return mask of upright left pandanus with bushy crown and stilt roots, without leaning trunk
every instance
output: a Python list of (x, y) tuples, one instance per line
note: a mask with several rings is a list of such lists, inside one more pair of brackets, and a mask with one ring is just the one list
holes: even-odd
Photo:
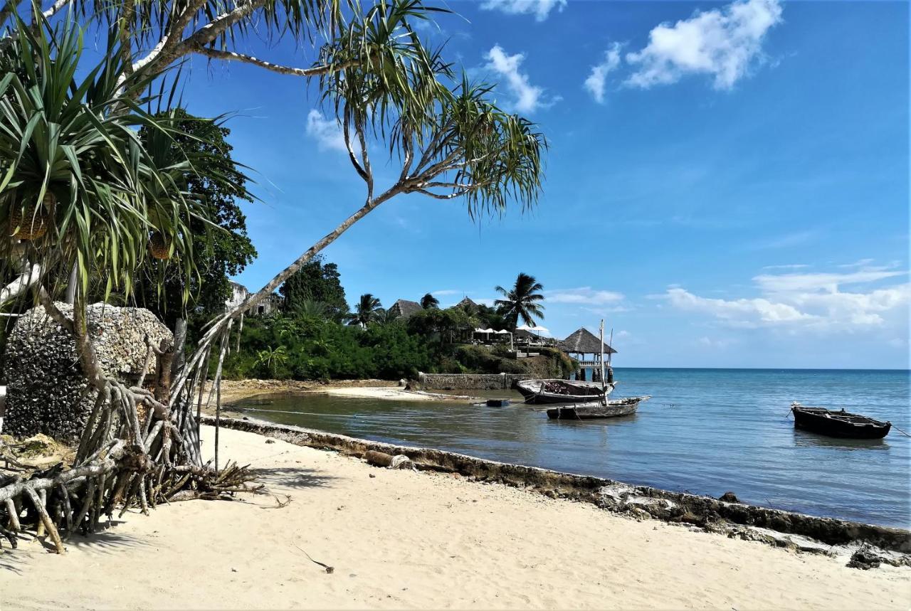
[[(152, 102), (143, 94), (148, 79), (120, 78), (116, 38), (101, 63), (77, 79), (83, 38), (69, 15), (55, 27), (40, 15), (31, 27), (16, 19), (15, 36), (0, 41), (0, 220), (6, 231), (0, 259), (25, 269), (20, 288), (34, 289), (46, 313), (74, 337), (95, 402), (72, 468), (12, 484), (0, 477), (0, 507), (18, 524), (16, 503), (25, 495), (62, 551), (56, 522), (66, 524), (69, 535), (84, 520), (97, 524), (121, 501), (138, 499), (144, 510), (154, 503), (161, 491), (152, 483), (173, 483), (176, 474), (166, 475), (164, 465), (173, 464), (172, 447), (183, 439), (171, 418), (168, 376), (154, 392), (144, 384), (155, 353), (162, 358), (157, 372), (169, 372), (163, 366), (168, 347), (148, 346), (135, 386), (109, 376), (88, 328), (90, 283), (100, 277), (106, 294), (129, 292), (150, 257), (174, 258), (189, 278), (194, 253), (207, 241), (194, 243), (190, 225), (209, 221), (187, 190), (194, 159), (174, 148), (179, 131), (169, 117), (143, 109)], [(148, 138), (139, 137), (142, 129)], [(71, 317), (51, 297), (60, 279), (69, 279), (74, 293)], [(189, 445), (180, 445), (185, 455)]]

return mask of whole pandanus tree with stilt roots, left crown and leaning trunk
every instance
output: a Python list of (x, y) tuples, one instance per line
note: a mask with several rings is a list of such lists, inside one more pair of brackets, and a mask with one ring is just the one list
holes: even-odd
[[(57, 66), (58, 78), (72, 80), (76, 63), (64, 68), (59, 58), (51, 56), (51, 45), (31, 36), (21, 24), (15, 27), (15, 36), (0, 41), (4, 51), (18, 49), (12, 56), (45, 54), (41, 61), (31, 62), (38, 68), (30, 67), (29, 60), (24, 67), (7, 70), (13, 76), (3, 77), (3, 112), (15, 118), (15, 127), (2, 128), (0, 156), (5, 165), (0, 192), (5, 196), (12, 189), (19, 189), (27, 193), (32, 205), (42, 202), (53, 216), (48, 235), (56, 241), (41, 248), (26, 245), (26, 249), (34, 251), (23, 260), (40, 260), (54, 249), (68, 253), (60, 255), (54, 267), (56, 277), (61, 277), (70, 269), (67, 266), (77, 264), (75, 284), (82, 287), (77, 290), (77, 312), (85, 311), (90, 270), (105, 270), (112, 285), (128, 289), (132, 273), (147, 256), (147, 241), (155, 233), (161, 238), (159, 247), (163, 247), (158, 251), (177, 254), (188, 272), (192, 271), (193, 245), (186, 239), (188, 219), (200, 212), (173, 174), (180, 176), (191, 171), (192, 162), (175, 161), (173, 167), (161, 168), (157, 157), (136, 137), (138, 123), (154, 124), (152, 117), (140, 111), (137, 102), (145, 83), (179, 57), (198, 53), (311, 77), (323, 107), (338, 121), (354, 173), (363, 180), (364, 196), (360, 207), (347, 219), (261, 290), (210, 321), (195, 351), (162, 394), (153, 395), (141, 385), (127, 388), (108, 379), (97, 365), (84, 313), (77, 314), (75, 324), (68, 323), (46, 291), (39, 290), (48, 311), (73, 331), (83, 370), (98, 396), (72, 468), (55, 478), (0, 484), (0, 503), (20, 494), (29, 494), (34, 501), (38, 498), (36, 486), (56, 490), (63, 485), (59, 502), (68, 506), (67, 482), (77, 480), (83, 486), (79, 489), (81, 509), (57, 512), (54, 517), (46, 511), (42, 515), (43, 524), (52, 535), (56, 534), (55, 522), (65, 522), (67, 532), (71, 532), (80, 527), (87, 514), (95, 524), (98, 514), (109, 513), (115, 504), (126, 508), (137, 503), (145, 509), (147, 502), (154, 503), (158, 497), (167, 499), (170, 495), (173, 500), (180, 494), (185, 495), (181, 498), (219, 494), (241, 486), (244, 475), (236, 469), (212, 476), (202, 461), (199, 441), (200, 411), (207, 387), (206, 402), (214, 396), (218, 413), (222, 365), (234, 321), (268, 299), (283, 281), (355, 222), (397, 196), (420, 194), (432, 199), (459, 200), (471, 218), (485, 213), (502, 214), (510, 202), (522, 209), (531, 206), (541, 187), (541, 156), (546, 147), (534, 124), (496, 107), (490, 100), (491, 87), (472, 83), (466, 76), (455, 76), (438, 50), (425, 49), (409, 21), (425, 18), (433, 9), (415, 0), (381, 1), (366, 11), (354, 2), (333, 0), (127, 0), (103, 5), (57, 0), (44, 16), (50, 17), (70, 3), (77, 14), (90, 15), (87, 18), (109, 25), (118, 45), (110, 46), (106, 62), (88, 79), (90, 83), (85, 88), (75, 83), (73, 87), (56, 88), (52, 95), (38, 81), (49, 70), (57, 70)], [(2, 10), (0, 19), (15, 14), (15, 0)], [(41, 23), (41, 15), (36, 23)], [(289, 33), (301, 41), (319, 39), (319, 56), (312, 66), (296, 68), (275, 66), (232, 50), (233, 43), (251, 31), (253, 24), (262, 24), (275, 35)], [(19, 49), (20, 46), (27, 48)], [(57, 43), (53, 46), (61, 48)], [(60, 56), (58, 51), (57, 57)], [(28, 82), (22, 81), (22, 72), (30, 79)], [(39, 100), (28, 112), (23, 111), (20, 106), (30, 103), (26, 98), (35, 95), (46, 99)], [(98, 105), (72, 101), (93, 96), (104, 101)], [(61, 99), (62, 104), (58, 101)], [(70, 148), (64, 147), (61, 142), (65, 144), (66, 140), (58, 137), (58, 127), (42, 127), (47, 116), (42, 108), (55, 104), (74, 113), (78, 107), (85, 114), (79, 115), (80, 121), (94, 128), (93, 135), (87, 136), (85, 142), (74, 141)], [(71, 128), (69, 123), (60, 125)], [(166, 127), (162, 129), (167, 131)], [(39, 160), (48, 143), (58, 147), (59, 153), (44, 166), (35, 164), (30, 170), (33, 178), (27, 182), (16, 177), (26, 167), (18, 153), (19, 144), (30, 139), (35, 140), (34, 154)], [(16, 140), (14, 147), (11, 143)], [(385, 166), (398, 167), (395, 178), (382, 187), (374, 178), (376, 151), (384, 154)], [(106, 160), (104, 164), (99, 162), (99, 156)], [(69, 168), (61, 170), (58, 180), (46, 178), (52, 171), (40, 171), (42, 167), (58, 165)], [(85, 168), (92, 171), (84, 171)], [(44, 203), (48, 191), (56, 201)], [(8, 215), (14, 205), (11, 202), (21, 205), (24, 197), (5, 197), (3, 212)], [(61, 201), (66, 205), (60, 206)], [(27, 216), (25, 209), (22, 216)], [(44, 273), (38, 270), (41, 278), (50, 277), (42, 276)], [(25, 270), (18, 284), (7, 287), (6, 294), (33, 285), (34, 276), (31, 270)], [(155, 350), (149, 346), (149, 358)], [(211, 385), (207, 383), (210, 361), (214, 364)], [(144, 418), (139, 417), (140, 408)], [(119, 422), (116, 430), (112, 429), (113, 422)], [(215, 469), (218, 470), (217, 427)], [(40, 506), (44, 503), (36, 502), (36, 507)], [(56, 544), (61, 550), (58, 538)]]

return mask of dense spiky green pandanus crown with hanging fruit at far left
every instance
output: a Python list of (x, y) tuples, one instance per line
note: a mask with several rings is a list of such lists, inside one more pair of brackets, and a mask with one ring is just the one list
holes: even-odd
[(93, 274), (106, 294), (131, 292), (157, 238), (189, 284), (194, 250), (209, 243), (194, 240), (191, 226), (210, 227), (188, 191), (200, 155), (172, 150), (176, 137), (192, 136), (134, 101), (147, 81), (118, 84), (115, 41), (97, 66), (80, 70), (80, 27), (38, 19), (0, 46), (0, 219), (9, 219), (13, 238), (0, 241), (0, 257), (27, 260), (40, 270), (36, 280), (58, 284), (75, 265), (85, 299)]

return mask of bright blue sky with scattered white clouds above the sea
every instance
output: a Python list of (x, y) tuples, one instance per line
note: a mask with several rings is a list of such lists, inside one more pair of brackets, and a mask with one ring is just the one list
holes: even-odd
[[(324, 251), (349, 302), (545, 287), (558, 338), (613, 330), (628, 367), (909, 367), (907, 3), (453, 2), (424, 24), (549, 149), (535, 209), (385, 203)], [(238, 50), (308, 66), (291, 41)], [(300, 77), (195, 58), (185, 100), (232, 113), (251, 289), (363, 204)], [(377, 148), (376, 155), (382, 153)], [(395, 162), (374, 155), (378, 183)]]

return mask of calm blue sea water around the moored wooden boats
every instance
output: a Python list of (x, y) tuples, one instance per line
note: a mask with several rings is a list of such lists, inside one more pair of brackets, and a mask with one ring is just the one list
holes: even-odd
[[(911, 433), (909, 372), (616, 369), (630, 417), (551, 422), (526, 406), (313, 395), (246, 402), (264, 420), (873, 524), (911, 525), (911, 438), (794, 431), (788, 405), (844, 407)], [(496, 392), (486, 393), (495, 396)], [(502, 395), (503, 393), (499, 393)], [(515, 395), (520, 400), (518, 394)]]

